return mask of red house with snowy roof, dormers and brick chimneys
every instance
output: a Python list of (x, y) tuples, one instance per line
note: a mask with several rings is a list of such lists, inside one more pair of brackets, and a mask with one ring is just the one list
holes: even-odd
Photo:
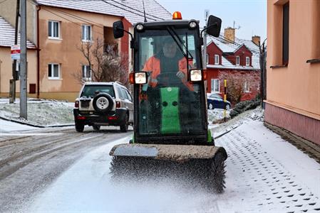
[(242, 89), (241, 101), (254, 99), (260, 84), (259, 40), (236, 38), (234, 28), (224, 29), (219, 38), (207, 37), (207, 92), (222, 94), (224, 78), (233, 75)]

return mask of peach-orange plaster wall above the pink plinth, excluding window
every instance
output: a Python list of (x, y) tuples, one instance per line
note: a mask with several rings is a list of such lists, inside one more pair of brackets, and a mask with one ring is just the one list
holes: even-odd
[(267, 102), (320, 120), (320, 63), (306, 63), (320, 58), (320, 28), (314, 28), (320, 24), (318, 0), (289, 1), (289, 64), (270, 68), (282, 63), (285, 2), (267, 1)]

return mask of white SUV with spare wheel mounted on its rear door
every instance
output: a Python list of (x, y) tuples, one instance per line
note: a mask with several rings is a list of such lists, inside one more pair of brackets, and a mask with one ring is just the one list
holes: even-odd
[(76, 131), (92, 126), (120, 126), (128, 131), (133, 124), (133, 98), (123, 84), (118, 82), (86, 82), (76, 99), (73, 109)]

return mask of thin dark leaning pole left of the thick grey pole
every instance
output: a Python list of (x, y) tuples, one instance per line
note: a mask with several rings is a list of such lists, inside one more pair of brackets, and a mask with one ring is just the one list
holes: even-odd
[[(18, 44), (19, 16), (20, 16), (19, 12), (20, 12), (20, 0), (16, 0), (16, 26), (15, 26), (15, 33), (14, 33), (14, 45)], [(9, 104), (12, 104), (16, 101), (16, 80), (18, 80), (19, 78), (16, 67), (17, 67), (16, 60), (14, 60), (14, 63), (12, 64), (12, 81), (10, 80), (11, 94), (10, 94)]]

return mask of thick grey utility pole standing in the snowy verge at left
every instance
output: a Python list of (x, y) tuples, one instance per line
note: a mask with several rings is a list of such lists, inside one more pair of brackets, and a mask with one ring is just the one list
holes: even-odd
[(21, 0), (20, 117), (27, 119), (26, 106), (26, 0)]

